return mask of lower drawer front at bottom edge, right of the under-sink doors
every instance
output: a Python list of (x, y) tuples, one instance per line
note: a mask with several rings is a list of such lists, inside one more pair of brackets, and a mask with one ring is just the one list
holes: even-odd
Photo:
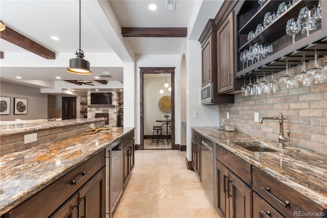
[(253, 218), (260, 217), (285, 217), (271, 207), (265, 200), (253, 193)]

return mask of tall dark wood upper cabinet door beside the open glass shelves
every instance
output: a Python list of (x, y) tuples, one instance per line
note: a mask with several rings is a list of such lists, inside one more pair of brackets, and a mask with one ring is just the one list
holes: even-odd
[(234, 89), (233, 12), (217, 31), (218, 93)]

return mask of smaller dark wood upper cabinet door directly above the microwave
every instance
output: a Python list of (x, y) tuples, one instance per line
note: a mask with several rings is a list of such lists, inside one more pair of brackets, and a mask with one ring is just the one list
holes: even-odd
[(202, 47), (202, 87), (213, 81), (213, 51), (212, 35), (206, 40)]

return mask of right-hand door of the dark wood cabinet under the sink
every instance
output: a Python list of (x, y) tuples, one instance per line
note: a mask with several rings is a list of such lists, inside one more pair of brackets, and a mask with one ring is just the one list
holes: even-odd
[(227, 182), (229, 217), (252, 217), (252, 190), (230, 171)]

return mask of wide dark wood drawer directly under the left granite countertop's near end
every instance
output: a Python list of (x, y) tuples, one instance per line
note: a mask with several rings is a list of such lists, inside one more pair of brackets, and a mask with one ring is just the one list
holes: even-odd
[[(9, 212), (10, 217), (48, 217), (104, 166), (101, 151)], [(83, 176), (83, 172), (88, 173)], [(80, 180), (81, 179), (81, 180)], [(79, 181), (80, 180), (80, 181)], [(72, 181), (79, 181), (72, 184)]]

